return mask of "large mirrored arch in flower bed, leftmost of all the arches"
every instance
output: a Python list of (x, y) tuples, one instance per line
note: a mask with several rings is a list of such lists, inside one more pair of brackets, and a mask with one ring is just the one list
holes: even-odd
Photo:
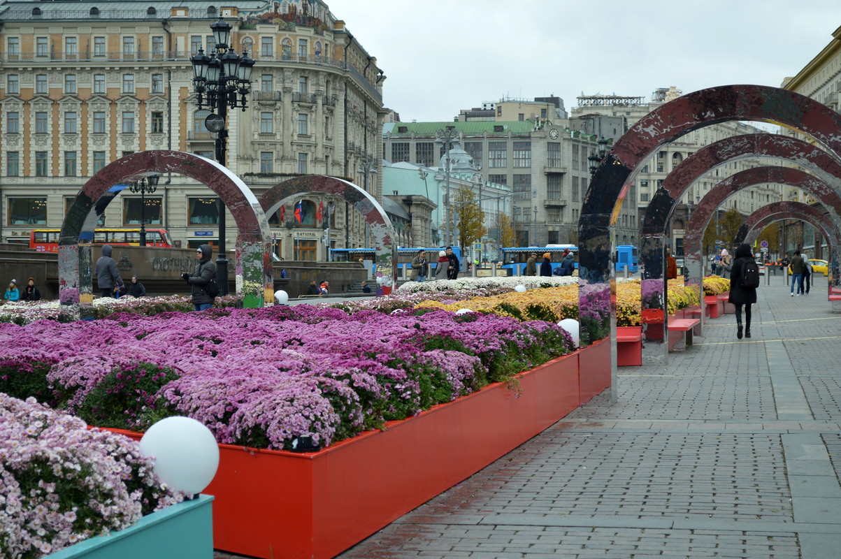
[[(59, 239), (59, 298), (64, 314), (73, 317), (93, 316), (93, 278), (91, 247), (93, 228), (98, 215), (117, 192), (114, 185), (132, 182), (152, 173), (177, 173), (202, 182), (216, 192), (230, 209), (238, 229), (237, 261), (242, 266), (237, 274), (237, 294), (246, 307), (260, 307), (273, 297), (270, 240), (266, 215), (257, 198), (239, 177), (202, 156), (182, 151), (139, 151), (121, 157), (88, 179), (61, 225)], [(87, 241), (80, 244), (80, 240)], [(271, 295), (270, 295), (271, 293)]]

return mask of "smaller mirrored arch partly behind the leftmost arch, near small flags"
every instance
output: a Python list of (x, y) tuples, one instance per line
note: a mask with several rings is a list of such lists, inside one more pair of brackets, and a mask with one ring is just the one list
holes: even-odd
[(272, 215), (289, 198), (309, 192), (323, 192), (344, 198), (362, 214), (371, 230), (377, 277), (383, 278), (380, 282), (384, 287), (397, 285), (397, 235), (394, 234), (391, 220), (376, 198), (352, 182), (324, 175), (290, 178), (263, 192), (260, 205), (264, 214)]

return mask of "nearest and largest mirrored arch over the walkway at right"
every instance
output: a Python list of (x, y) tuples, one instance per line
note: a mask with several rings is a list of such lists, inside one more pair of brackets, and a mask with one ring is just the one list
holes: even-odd
[[(841, 155), (841, 115), (811, 98), (776, 87), (732, 85), (692, 92), (665, 103), (634, 124), (616, 143), (596, 169), (584, 197), (579, 219), (579, 313), (589, 312), (591, 301), (602, 305), (616, 293), (611, 269), (611, 227), (644, 161), (660, 146), (677, 140), (693, 129), (730, 120), (756, 120), (785, 124), (807, 134), (833, 155)], [(841, 157), (838, 158), (841, 160)], [(676, 203), (676, 201), (675, 201)], [(641, 243), (642, 245), (642, 243)], [(664, 284), (664, 256), (659, 250), (659, 266), (644, 271), (645, 277)], [(663, 299), (656, 301), (665, 310)], [(600, 315), (609, 325), (611, 353), (616, 355), (616, 307), (609, 303), (609, 316)], [(668, 331), (663, 332), (668, 339)], [(665, 352), (659, 353), (663, 361)], [(616, 367), (611, 367), (611, 383)]]

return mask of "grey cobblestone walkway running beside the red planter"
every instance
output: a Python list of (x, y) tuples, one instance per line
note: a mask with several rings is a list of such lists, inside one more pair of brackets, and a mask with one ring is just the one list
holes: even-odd
[(827, 280), (770, 278), (751, 339), (728, 314), (341, 554), (643, 559), (841, 557), (841, 314)]

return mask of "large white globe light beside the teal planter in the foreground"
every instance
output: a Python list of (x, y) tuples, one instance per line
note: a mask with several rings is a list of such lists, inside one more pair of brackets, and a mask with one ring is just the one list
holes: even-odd
[(152, 425), (140, 439), (140, 454), (154, 456), (157, 477), (187, 493), (201, 493), (219, 467), (213, 433), (188, 417), (168, 417)]

